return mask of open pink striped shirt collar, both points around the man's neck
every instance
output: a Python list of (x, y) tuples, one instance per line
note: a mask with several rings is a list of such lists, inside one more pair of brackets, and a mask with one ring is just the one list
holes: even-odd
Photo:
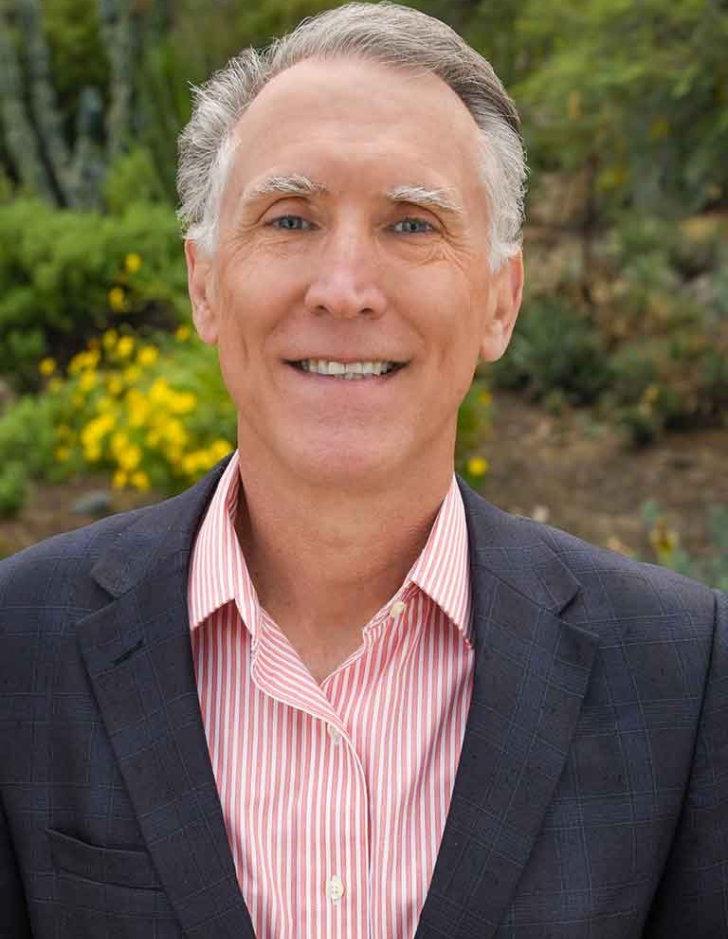
[[(255, 631), (259, 604), (235, 532), (240, 492), (237, 450), (225, 468), (197, 534), (188, 580), (190, 628), (197, 629), (215, 610), (237, 601), (243, 622)], [(416, 584), (470, 642), (471, 590), (465, 507), (453, 476), (425, 547), (402, 588)]]

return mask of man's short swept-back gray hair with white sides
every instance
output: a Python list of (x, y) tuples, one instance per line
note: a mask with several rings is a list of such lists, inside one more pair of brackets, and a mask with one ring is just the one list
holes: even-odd
[(297, 62), (342, 55), (431, 72), (463, 101), (481, 133), (490, 265), (497, 270), (521, 245), (527, 169), (518, 112), (491, 64), (454, 30), (389, 2), (347, 3), (305, 19), (262, 52), (244, 49), (192, 89), (192, 117), (179, 137), (177, 173), (178, 215), (186, 237), (214, 251), (233, 131), (264, 85)]

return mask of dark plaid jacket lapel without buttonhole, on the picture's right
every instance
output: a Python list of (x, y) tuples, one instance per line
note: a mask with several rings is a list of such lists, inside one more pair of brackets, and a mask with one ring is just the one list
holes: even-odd
[(489, 939), (563, 769), (596, 637), (560, 618), (578, 582), (533, 529), (461, 483), (473, 592), (473, 695), (416, 939)]

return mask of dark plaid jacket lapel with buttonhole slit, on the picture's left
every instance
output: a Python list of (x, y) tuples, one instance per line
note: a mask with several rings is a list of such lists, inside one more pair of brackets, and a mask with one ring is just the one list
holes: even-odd
[(187, 567), (224, 466), (144, 510), (92, 571), (115, 598), (78, 625), (139, 826), (182, 928), (253, 937), (210, 763), (192, 663)]

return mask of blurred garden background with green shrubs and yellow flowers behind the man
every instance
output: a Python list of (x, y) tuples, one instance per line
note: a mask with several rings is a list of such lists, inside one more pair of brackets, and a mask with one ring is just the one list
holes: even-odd
[[(175, 215), (197, 84), (312, 0), (0, 0), (0, 556), (190, 485), (235, 441)], [(531, 166), (527, 294), (458, 470), (501, 507), (728, 587), (728, 12), (422, 0)]]

